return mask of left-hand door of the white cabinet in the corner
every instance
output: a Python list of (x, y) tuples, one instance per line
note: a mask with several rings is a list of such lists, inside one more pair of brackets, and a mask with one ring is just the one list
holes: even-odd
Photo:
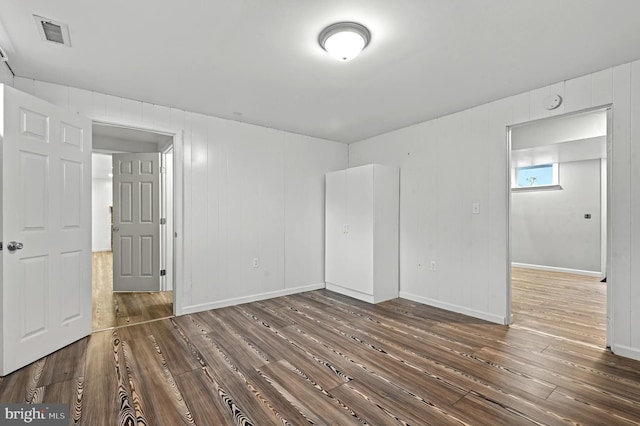
[(347, 281), (346, 200), (347, 174), (341, 170), (326, 176), (325, 277), (326, 282), (344, 286)]

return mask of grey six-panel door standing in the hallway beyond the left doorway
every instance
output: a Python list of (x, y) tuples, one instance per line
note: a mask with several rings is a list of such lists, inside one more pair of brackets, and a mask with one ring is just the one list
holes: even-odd
[(113, 291), (160, 290), (160, 165), (113, 154)]

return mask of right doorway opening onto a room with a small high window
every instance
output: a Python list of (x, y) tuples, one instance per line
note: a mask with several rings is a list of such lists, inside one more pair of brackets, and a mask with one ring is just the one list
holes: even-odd
[(609, 346), (611, 109), (507, 128), (511, 324)]

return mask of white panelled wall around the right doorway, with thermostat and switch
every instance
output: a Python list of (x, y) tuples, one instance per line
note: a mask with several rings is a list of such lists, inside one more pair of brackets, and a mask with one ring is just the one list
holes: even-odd
[[(542, 101), (551, 93), (564, 103), (550, 112)], [(613, 104), (608, 337), (614, 352), (640, 359), (640, 223), (631, 221), (640, 217), (640, 61), (350, 145), (350, 166), (402, 167), (402, 296), (506, 322), (506, 127), (606, 104)], [(431, 259), (435, 272), (425, 268)]]

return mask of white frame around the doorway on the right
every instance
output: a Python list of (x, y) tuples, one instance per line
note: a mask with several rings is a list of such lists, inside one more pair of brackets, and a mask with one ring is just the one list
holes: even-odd
[[(535, 120), (529, 120), (522, 123), (510, 124), (506, 127), (506, 144), (507, 144), (507, 309), (505, 315), (505, 324), (511, 325), (513, 323), (513, 314), (511, 309), (512, 302), (512, 280), (511, 280), (511, 264), (512, 264), (512, 236), (511, 236), (511, 129), (515, 127), (519, 127), (526, 124), (536, 123), (542, 120), (548, 119), (557, 119), (562, 117), (569, 117), (572, 115), (583, 114), (593, 111), (606, 111), (607, 112), (607, 135), (606, 135), (606, 150), (607, 150), (607, 158), (606, 158), (606, 173), (607, 179), (605, 183), (606, 188), (606, 210), (603, 211), (601, 208), (601, 213), (606, 213), (606, 239), (601, 239), (600, 245), (601, 250), (602, 246), (604, 246), (604, 252), (601, 253), (600, 256), (602, 258), (602, 269), (605, 277), (610, 275), (611, 272), (611, 240), (613, 236), (612, 232), (612, 223), (611, 223), (611, 194), (613, 192), (613, 104), (605, 104), (599, 105), (591, 108), (585, 108), (578, 111), (571, 111), (564, 114), (558, 114), (550, 117), (543, 117)], [(602, 173), (600, 174), (602, 176)], [(600, 185), (602, 188), (602, 184)], [(602, 200), (602, 194), (600, 196)], [(603, 229), (601, 229), (602, 235)], [(608, 348), (611, 347), (611, 342), (613, 341), (613, 286), (610, 280), (607, 280), (607, 288), (606, 288), (606, 346)]]

